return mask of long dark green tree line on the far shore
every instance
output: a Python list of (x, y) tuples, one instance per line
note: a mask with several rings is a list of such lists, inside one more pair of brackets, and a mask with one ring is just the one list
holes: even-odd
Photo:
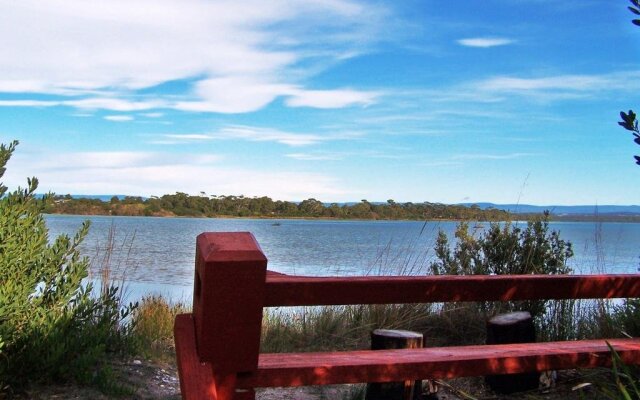
[(510, 214), (477, 205), (440, 203), (323, 203), (314, 198), (301, 202), (272, 200), (267, 196), (207, 196), (177, 192), (161, 197), (113, 196), (110, 201), (54, 196), (47, 213), (76, 215), (177, 216), (177, 217), (255, 217), (255, 218), (332, 218), (382, 220), (477, 220), (504, 221)]

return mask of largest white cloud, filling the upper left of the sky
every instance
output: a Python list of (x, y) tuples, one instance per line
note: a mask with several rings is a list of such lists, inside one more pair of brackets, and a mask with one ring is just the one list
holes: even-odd
[[(294, 106), (370, 104), (355, 90), (305, 93), (301, 78), (366, 51), (386, 14), (355, 0), (0, 0), (0, 9), (0, 93), (76, 96), (38, 106), (222, 113), (279, 96)], [(191, 80), (193, 92), (132, 98), (176, 80)]]

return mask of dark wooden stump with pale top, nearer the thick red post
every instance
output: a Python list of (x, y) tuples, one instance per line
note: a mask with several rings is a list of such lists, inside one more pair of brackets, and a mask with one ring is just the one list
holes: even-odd
[[(419, 349), (422, 334), (411, 331), (376, 329), (371, 332), (371, 350)], [(365, 400), (419, 400), (422, 381), (367, 384)]]

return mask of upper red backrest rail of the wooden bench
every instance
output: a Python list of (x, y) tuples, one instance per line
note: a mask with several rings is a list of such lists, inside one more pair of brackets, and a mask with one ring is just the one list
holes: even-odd
[(640, 275), (267, 277), (265, 307), (640, 297)]

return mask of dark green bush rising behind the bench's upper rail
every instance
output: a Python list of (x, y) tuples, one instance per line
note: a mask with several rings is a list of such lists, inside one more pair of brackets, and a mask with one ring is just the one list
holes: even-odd
[[(452, 249), (447, 235), (440, 231), (435, 245), (436, 260), (431, 264), (435, 275), (513, 275), (566, 274), (566, 262), (573, 256), (571, 243), (549, 232), (548, 213), (527, 223), (525, 228), (512, 222), (491, 223), (479, 234), (469, 232), (469, 224), (460, 223)], [(485, 312), (529, 311), (541, 317), (546, 301), (483, 304)]]

